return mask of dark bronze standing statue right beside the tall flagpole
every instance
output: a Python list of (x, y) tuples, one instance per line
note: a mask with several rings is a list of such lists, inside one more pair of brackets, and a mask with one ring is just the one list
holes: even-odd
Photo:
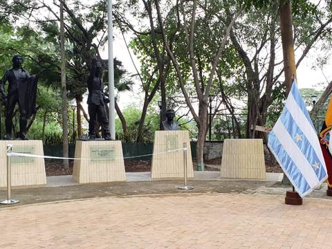
[(102, 83), (102, 64), (97, 59), (93, 59), (90, 75), (88, 78), (88, 111), (89, 111), (89, 137), (88, 140), (95, 139), (95, 123), (102, 124), (102, 136), (105, 140), (111, 140), (109, 133), (109, 118), (107, 116), (106, 104), (109, 102), (104, 96), (104, 84)]

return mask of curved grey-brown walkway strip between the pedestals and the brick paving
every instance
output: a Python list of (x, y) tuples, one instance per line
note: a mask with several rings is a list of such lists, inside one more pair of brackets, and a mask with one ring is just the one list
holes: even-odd
[[(288, 186), (277, 186), (282, 181), (282, 174), (266, 174), (264, 181), (244, 181), (221, 179), (220, 172), (194, 172), (194, 179), (188, 183), (194, 186), (190, 193), (246, 193), (263, 192), (268, 194), (284, 194)], [(183, 180), (156, 180), (150, 178), (149, 172), (127, 173), (127, 181), (113, 183), (78, 184), (71, 176), (47, 177), (45, 187), (13, 187), (12, 199), (18, 199), (17, 205), (86, 199), (104, 196), (129, 196), (137, 194), (179, 194), (183, 190), (177, 187), (183, 185)], [(323, 188), (324, 189), (324, 188)], [(317, 192), (315, 196), (326, 196), (324, 192)], [(0, 189), (0, 200), (6, 199), (6, 187)], [(4, 208), (0, 205), (0, 209)], [(1, 249), (1, 248), (0, 248)]]

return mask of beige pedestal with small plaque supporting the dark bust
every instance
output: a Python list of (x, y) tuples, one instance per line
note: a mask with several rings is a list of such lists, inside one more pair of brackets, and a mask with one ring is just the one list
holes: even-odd
[[(183, 142), (187, 143), (187, 177), (194, 177), (188, 131), (156, 131), (151, 178), (183, 178)], [(178, 151), (173, 151), (179, 149)], [(167, 151), (172, 151), (168, 152)]]

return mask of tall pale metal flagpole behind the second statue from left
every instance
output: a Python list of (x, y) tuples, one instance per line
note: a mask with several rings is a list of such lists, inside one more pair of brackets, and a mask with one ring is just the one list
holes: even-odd
[(112, 15), (112, 0), (107, 1), (108, 12), (108, 39), (109, 39), (109, 131), (111, 138), (116, 139), (116, 118), (115, 118), (115, 103), (114, 103), (114, 66), (113, 66), (113, 15)]

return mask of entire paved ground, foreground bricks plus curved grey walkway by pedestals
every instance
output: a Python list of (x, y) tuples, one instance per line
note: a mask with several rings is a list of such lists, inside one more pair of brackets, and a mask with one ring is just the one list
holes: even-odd
[[(304, 205), (284, 204), (280, 175), (234, 181), (196, 174), (151, 181), (146, 173), (120, 183), (48, 178), (46, 187), (12, 190), (0, 205), (3, 248), (332, 248), (332, 198), (326, 184)], [(0, 191), (0, 199), (6, 191)]]

